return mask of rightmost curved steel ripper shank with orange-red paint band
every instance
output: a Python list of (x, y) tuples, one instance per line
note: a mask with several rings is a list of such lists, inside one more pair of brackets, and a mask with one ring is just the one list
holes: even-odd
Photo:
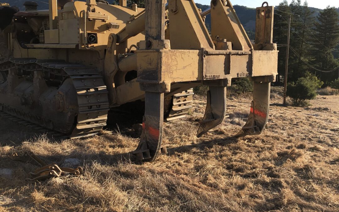
[(268, 110), (270, 107), (270, 82), (254, 82), (253, 101), (247, 122), (235, 135), (236, 137), (246, 135), (259, 135), (266, 127)]

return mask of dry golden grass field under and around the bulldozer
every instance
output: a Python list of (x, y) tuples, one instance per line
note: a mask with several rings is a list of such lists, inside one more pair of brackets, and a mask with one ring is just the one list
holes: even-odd
[[(229, 118), (196, 138), (205, 100), (165, 123), (168, 155), (138, 163), (133, 129), (88, 139), (53, 140), (0, 118), (0, 211), (339, 211), (339, 96), (308, 108), (282, 107), (273, 91), (269, 130), (234, 138), (249, 98), (227, 100)], [(329, 110), (328, 110), (329, 109)], [(5, 156), (32, 151), (61, 165), (78, 158), (84, 176), (25, 181), (36, 168)]]

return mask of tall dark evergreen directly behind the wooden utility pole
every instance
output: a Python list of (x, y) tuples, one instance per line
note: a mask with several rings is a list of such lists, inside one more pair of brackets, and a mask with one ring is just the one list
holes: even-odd
[[(278, 44), (287, 43), (287, 21), (291, 13), (291, 32), (290, 32), (290, 54), (288, 58), (288, 81), (296, 81), (298, 78), (305, 76), (309, 70), (303, 60), (308, 61), (311, 58), (310, 52), (310, 28), (313, 25), (313, 13), (305, 1), (301, 5), (300, 0), (293, 0), (290, 5), (283, 1), (277, 7), (274, 20), (274, 41)], [(282, 11), (282, 12), (280, 12)], [(283, 13), (287, 12), (287, 13)], [(278, 45), (279, 46), (279, 45)], [(298, 54), (295, 54), (294, 51)], [(283, 74), (285, 71), (286, 47), (279, 48), (278, 55), (278, 73)], [(279, 77), (278, 77), (279, 78)]]

